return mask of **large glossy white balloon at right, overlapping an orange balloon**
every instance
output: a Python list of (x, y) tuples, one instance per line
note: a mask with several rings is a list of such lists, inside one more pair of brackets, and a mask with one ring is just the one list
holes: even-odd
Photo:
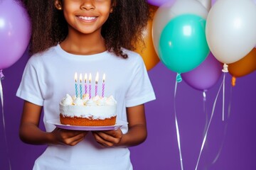
[(256, 45), (256, 6), (252, 0), (218, 0), (208, 13), (206, 40), (225, 64), (245, 57)]

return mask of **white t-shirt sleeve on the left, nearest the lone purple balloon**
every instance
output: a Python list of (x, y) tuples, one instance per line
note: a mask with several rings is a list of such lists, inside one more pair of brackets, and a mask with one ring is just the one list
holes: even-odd
[(43, 96), (36, 67), (36, 60), (33, 57), (28, 60), (23, 72), (21, 84), (18, 86), (16, 96), (38, 106), (43, 106)]

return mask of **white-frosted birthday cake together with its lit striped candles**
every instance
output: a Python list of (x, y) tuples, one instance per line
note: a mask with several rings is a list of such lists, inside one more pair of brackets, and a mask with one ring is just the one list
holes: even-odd
[[(82, 91), (82, 82), (84, 82), (85, 92)], [(117, 118), (117, 101), (113, 96), (106, 97), (105, 74), (102, 79), (102, 95), (97, 95), (99, 82), (99, 73), (95, 77), (95, 96), (92, 96), (92, 75), (89, 76), (87, 91), (87, 74), (82, 81), (80, 74), (80, 93), (78, 94), (78, 74), (75, 73), (75, 96), (69, 94), (60, 101), (60, 123), (63, 125), (78, 126), (110, 126), (115, 125)], [(87, 93), (88, 92), (88, 93)]]

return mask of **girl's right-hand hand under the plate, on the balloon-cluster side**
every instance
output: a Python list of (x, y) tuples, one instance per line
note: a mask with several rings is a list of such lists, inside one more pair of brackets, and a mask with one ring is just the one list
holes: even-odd
[(120, 142), (123, 134), (122, 130), (118, 128), (116, 130), (94, 131), (92, 135), (100, 146), (114, 147)]

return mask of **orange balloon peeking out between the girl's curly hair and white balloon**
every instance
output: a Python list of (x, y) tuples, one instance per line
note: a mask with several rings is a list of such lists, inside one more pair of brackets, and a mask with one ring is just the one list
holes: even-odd
[(136, 48), (134, 52), (138, 52), (139, 55), (142, 56), (142, 59), (146, 65), (146, 70), (148, 71), (155, 67), (160, 61), (156, 51), (154, 50), (154, 44), (152, 41), (152, 19), (157, 8), (155, 6), (150, 6), (149, 9), (151, 17), (149, 18), (147, 26), (143, 31), (144, 42), (139, 41), (134, 45)]

